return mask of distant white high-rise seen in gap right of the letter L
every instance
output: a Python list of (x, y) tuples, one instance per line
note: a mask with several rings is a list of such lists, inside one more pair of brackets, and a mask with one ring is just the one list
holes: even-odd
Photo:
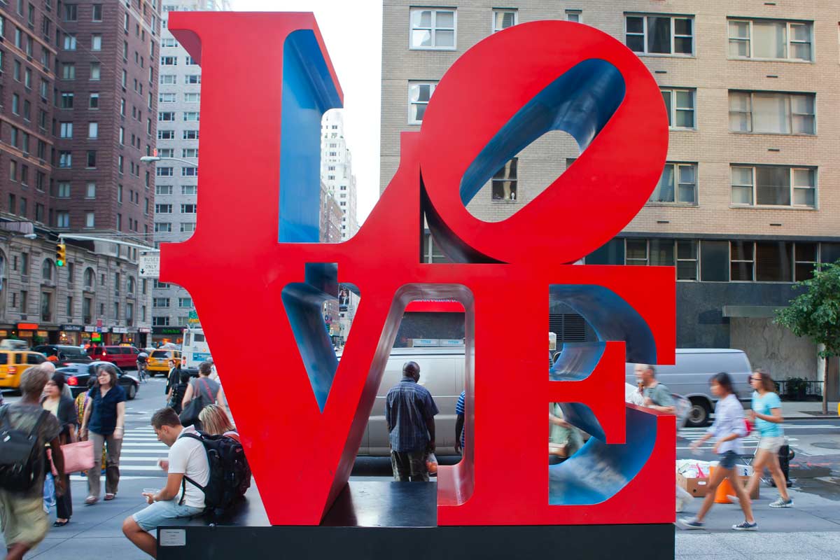
[(353, 156), (344, 140), (344, 116), (340, 109), (324, 114), (321, 121), (321, 181), (341, 207), (341, 240), (359, 231), (356, 216), (356, 177)]

